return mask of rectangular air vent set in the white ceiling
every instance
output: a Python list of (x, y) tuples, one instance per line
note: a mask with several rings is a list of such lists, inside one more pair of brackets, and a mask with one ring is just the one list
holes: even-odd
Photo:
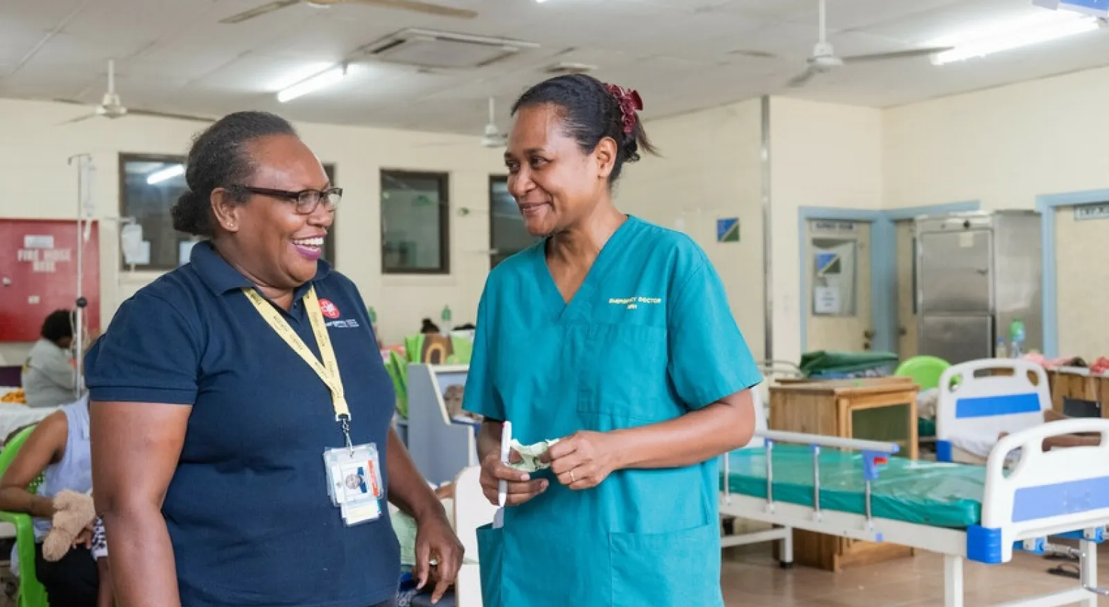
[(481, 68), (539, 44), (465, 33), (407, 29), (366, 44), (360, 52), (379, 61), (419, 68)]

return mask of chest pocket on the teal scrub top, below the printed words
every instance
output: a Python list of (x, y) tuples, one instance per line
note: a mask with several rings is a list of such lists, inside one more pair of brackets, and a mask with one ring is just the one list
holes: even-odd
[(680, 411), (667, 383), (667, 330), (638, 323), (589, 326), (580, 360), (578, 412), (661, 421)]

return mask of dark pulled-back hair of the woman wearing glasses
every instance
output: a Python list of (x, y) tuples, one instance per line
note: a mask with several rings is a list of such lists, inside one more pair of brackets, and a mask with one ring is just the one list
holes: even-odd
[[(285, 119), (267, 112), (227, 114), (196, 136), (185, 161), (189, 192), (177, 198), (171, 214), (173, 229), (195, 236), (214, 236), (210, 198), (217, 187), (240, 185), (254, 173), (247, 145), (272, 135), (296, 136)], [(232, 191), (240, 202), (245, 193)]]

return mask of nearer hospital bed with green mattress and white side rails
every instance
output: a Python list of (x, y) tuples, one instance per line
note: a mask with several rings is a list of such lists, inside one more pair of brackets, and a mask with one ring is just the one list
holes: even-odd
[[(1101, 444), (1041, 450), (1048, 436), (1078, 432), (1101, 434)], [(762, 447), (725, 459), (722, 515), (943, 554), (945, 607), (964, 606), (965, 559), (1003, 564), (1014, 549), (1045, 553), (1048, 536), (1076, 538), (1076, 587), (1004, 606), (1095, 607), (1109, 596), (1097, 587), (1096, 551), (1109, 524), (1109, 420), (1021, 430), (998, 441), (986, 466), (893, 457), (893, 443), (759, 434)]]

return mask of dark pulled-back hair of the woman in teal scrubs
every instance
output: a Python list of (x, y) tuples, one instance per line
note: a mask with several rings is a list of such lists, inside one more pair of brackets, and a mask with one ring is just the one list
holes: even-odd
[(602, 138), (617, 142), (617, 158), (609, 175), (609, 183), (620, 178), (624, 163), (639, 160), (639, 151), (654, 154), (647, 138), (647, 131), (637, 115), (631, 133), (624, 133), (620, 101), (607, 85), (593, 76), (570, 74), (554, 76), (528, 89), (512, 104), (515, 115), (521, 107), (551, 104), (558, 109), (562, 132), (578, 142), (586, 154), (591, 154)]

